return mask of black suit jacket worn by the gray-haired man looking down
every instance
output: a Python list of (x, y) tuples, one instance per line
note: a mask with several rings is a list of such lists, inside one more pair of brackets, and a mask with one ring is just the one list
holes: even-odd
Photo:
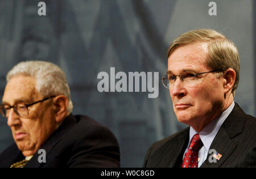
[[(39, 163), (42, 154), (36, 152), (26, 167), (119, 167), (119, 146), (113, 133), (86, 116), (65, 118), (41, 149), (46, 151), (46, 163)], [(0, 155), (0, 167), (23, 160), (14, 143)], [(40, 160), (39, 160), (40, 161)]]

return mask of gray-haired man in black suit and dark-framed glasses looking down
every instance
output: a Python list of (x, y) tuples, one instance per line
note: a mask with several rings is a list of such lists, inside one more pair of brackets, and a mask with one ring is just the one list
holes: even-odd
[(0, 167), (119, 167), (114, 134), (86, 116), (73, 116), (64, 72), (49, 62), (28, 61), (7, 74), (1, 114), (15, 143)]

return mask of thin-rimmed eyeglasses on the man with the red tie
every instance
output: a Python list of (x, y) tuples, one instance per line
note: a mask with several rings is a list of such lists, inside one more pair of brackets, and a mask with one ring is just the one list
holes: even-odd
[(177, 76), (180, 77), (181, 82), (183, 82), (184, 86), (187, 87), (195, 87), (197, 84), (200, 83), (199, 80), (199, 76), (201, 74), (205, 74), (205, 73), (213, 73), (213, 72), (221, 72), (224, 70), (214, 70), (214, 71), (207, 71), (207, 72), (203, 72), (203, 73), (193, 73), (191, 71), (184, 71), (183, 73), (181, 73), (180, 75), (172, 75), (172, 74), (166, 74), (163, 75), (162, 77), (162, 83), (163, 86), (166, 88), (174, 88), (174, 83), (177, 79)]

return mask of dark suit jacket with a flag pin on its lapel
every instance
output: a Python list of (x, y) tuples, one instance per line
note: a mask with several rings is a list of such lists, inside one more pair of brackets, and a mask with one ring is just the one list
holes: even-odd
[[(189, 127), (159, 140), (149, 148), (143, 167), (181, 167), (189, 140)], [(256, 119), (243, 112), (236, 104), (224, 121), (210, 149), (222, 155), (210, 163), (212, 154), (201, 167), (256, 167)]]

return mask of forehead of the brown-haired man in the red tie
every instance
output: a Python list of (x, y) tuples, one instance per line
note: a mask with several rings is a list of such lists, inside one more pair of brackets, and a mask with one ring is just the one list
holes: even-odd
[(199, 72), (208, 69), (207, 43), (195, 43), (180, 46), (168, 58), (168, 71), (181, 73), (182, 71)]

